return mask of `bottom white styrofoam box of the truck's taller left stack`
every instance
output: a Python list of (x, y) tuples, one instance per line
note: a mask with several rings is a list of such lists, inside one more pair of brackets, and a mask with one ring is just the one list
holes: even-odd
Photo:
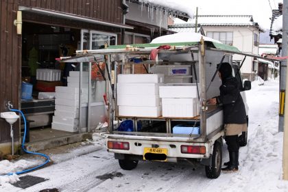
[(161, 115), (161, 107), (135, 107), (119, 106), (120, 116), (158, 118)]

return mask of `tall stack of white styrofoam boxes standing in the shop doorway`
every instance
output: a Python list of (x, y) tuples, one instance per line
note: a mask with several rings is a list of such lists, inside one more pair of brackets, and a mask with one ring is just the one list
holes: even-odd
[[(83, 84), (88, 84), (88, 72), (83, 73)], [(56, 87), (55, 112), (52, 129), (76, 132), (79, 127), (79, 71), (71, 71), (67, 87)], [(75, 85), (78, 85), (76, 87)], [(71, 86), (72, 85), (72, 86)], [(73, 85), (75, 87), (73, 87)], [(88, 88), (82, 88), (82, 105), (88, 101)]]

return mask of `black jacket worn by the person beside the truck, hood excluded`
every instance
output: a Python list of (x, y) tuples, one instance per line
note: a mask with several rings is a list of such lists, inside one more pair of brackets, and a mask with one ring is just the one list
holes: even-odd
[(224, 124), (245, 124), (245, 105), (239, 92), (239, 83), (235, 77), (222, 77), (217, 103), (224, 108)]

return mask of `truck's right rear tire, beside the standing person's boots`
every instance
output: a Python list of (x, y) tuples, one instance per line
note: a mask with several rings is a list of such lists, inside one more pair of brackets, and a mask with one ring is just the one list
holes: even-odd
[(205, 172), (207, 178), (218, 178), (221, 173), (221, 165), (222, 165), (222, 147), (221, 143), (216, 141), (213, 147), (211, 165), (205, 166)]

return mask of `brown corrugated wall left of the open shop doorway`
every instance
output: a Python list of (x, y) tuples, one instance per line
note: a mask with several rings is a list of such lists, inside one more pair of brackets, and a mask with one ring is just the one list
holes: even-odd
[[(19, 108), (19, 87), (21, 77), (21, 36), (16, 34), (13, 20), (18, 5), (13, 1), (0, 3), (0, 112), (7, 111), (5, 103), (12, 101)], [(14, 124), (15, 141), (19, 140), (19, 124)], [(11, 141), (10, 125), (1, 118), (0, 143)]]

